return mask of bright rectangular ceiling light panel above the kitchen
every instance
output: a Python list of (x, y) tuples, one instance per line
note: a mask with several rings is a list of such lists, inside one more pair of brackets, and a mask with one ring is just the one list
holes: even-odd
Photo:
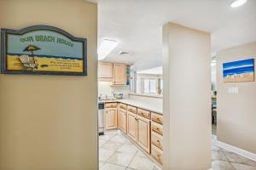
[(116, 48), (117, 45), (118, 42), (114, 40), (104, 39), (97, 50), (98, 59), (105, 59), (108, 56), (108, 54), (110, 54), (111, 51), (113, 51), (113, 49)]

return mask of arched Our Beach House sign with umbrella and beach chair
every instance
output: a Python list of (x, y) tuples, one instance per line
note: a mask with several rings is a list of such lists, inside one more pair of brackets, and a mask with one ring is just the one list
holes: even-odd
[(1, 29), (1, 73), (87, 75), (87, 40), (54, 26)]

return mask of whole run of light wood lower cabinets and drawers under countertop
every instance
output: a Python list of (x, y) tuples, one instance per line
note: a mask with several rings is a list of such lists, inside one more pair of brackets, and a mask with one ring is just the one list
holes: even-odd
[(163, 164), (163, 116), (132, 105), (105, 104), (106, 129), (119, 128), (155, 161)]

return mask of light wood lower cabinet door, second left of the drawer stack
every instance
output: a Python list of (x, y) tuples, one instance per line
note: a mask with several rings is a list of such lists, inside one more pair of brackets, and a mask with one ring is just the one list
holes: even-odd
[(137, 116), (127, 111), (127, 135), (137, 142)]

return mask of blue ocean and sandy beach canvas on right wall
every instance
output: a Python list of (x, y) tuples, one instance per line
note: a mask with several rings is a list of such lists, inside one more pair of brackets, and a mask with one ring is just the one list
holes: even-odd
[(224, 82), (254, 82), (254, 59), (223, 64)]

